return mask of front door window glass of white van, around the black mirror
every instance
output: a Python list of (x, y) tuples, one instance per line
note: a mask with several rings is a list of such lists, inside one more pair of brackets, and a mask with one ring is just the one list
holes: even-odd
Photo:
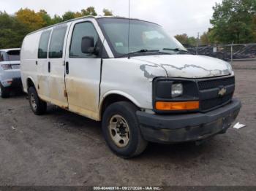
[(99, 36), (94, 28), (94, 25), (89, 22), (78, 23), (75, 25), (72, 41), (70, 45), (69, 58), (96, 58), (97, 55), (84, 54), (81, 51), (81, 44), (83, 36), (93, 36), (94, 37), (94, 47), (99, 43)]

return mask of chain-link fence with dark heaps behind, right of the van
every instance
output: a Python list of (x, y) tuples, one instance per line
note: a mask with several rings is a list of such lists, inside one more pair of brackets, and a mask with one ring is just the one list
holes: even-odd
[(224, 61), (256, 61), (256, 43), (187, 47), (195, 55), (207, 55)]

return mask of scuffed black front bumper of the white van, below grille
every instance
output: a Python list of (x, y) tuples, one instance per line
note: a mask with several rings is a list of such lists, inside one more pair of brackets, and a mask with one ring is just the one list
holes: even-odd
[(148, 114), (137, 112), (144, 139), (159, 143), (197, 141), (223, 133), (236, 120), (241, 102), (233, 99), (230, 104), (207, 113)]

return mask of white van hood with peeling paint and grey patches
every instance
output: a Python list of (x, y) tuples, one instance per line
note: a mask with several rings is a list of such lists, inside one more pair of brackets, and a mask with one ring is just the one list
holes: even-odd
[[(203, 55), (148, 55), (132, 59), (161, 66), (167, 77), (205, 78), (233, 74), (230, 63)], [(143, 64), (142, 64), (143, 65)]]

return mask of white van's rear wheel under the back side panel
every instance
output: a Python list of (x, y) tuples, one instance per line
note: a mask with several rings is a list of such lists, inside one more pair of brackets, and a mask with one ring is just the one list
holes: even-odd
[(37, 115), (45, 114), (47, 104), (45, 101), (40, 100), (37, 95), (37, 90), (34, 87), (29, 87), (29, 105), (32, 112)]

